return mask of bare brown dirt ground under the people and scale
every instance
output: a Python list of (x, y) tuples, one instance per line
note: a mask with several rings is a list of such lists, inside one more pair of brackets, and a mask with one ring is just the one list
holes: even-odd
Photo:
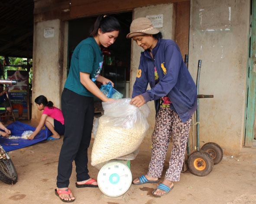
[[(26, 124), (31, 122), (26, 121)], [(62, 139), (42, 141), (9, 152), (18, 173), (18, 182), (7, 185), (0, 181), (1, 204), (63, 203), (54, 191)], [(93, 141), (92, 138), (91, 147)], [(133, 178), (145, 174), (149, 164), (149, 144), (143, 142), (139, 150), (136, 158), (131, 160)], [(97, 179), (99, 171), (90, 162), (89, 171), (91, 177)], [(224, 155), (207, 176), (199, 177), (189, 170), (182, 172), (172, 191), (162, 197), (151, 194), (157, 184), (131, 185), (128, 193), (120, 199), (104, 196), (99, 188), (76, 188), (75, 181), (73, 165), (69, 188), (76, 197), (75, 204), (256, 204), (256, 149), (247, 149), (236, 158)]]

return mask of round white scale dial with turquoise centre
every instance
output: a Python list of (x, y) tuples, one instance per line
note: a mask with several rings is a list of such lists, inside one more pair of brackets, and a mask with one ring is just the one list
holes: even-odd
[(132, 173), (122, 162), (109, 162), (100, 169), (97, 182), (102, 193), (109, 197), (118, 197), (130, 188)]

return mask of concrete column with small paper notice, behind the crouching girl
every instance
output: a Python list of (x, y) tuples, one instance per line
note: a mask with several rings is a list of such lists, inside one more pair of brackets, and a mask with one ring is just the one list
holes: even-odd
[(57, 108), (66, 79), (68, 23), (59, 19), (37, 22), (34, 26), (32, 119), (39, 120), (42, 112), (34, 100), (44, 95)]

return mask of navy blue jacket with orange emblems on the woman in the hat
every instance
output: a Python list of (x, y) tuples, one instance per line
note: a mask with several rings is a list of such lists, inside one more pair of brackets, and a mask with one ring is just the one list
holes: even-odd
[[(185, 123), (197, 109), (197, 87), (186, 67), (178, 45), (173, 40), (160, 39), (152, 49), (141, 53), (132, 97), (142, 95), (146, 102), (155, 101), (156, 112), (160, 108), (159, 99), (168, 96), (181, 121)], [(154, 67), (159, 76), (155, 84)], [(151, 87), (147, 90), (148, 83)]]

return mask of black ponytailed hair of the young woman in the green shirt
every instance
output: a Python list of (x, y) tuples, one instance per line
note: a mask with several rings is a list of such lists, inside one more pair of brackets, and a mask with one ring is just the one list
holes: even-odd
[(90, 33), (91, 37), (95, 37), (98, 35), (98, 30), (100, 29), (101, 32), (112, 32), (114, 30), (120, 31), (120, 23), (118, 20), (113, 16), (107, 15), (100, 15), (97, 17), (94, 28)]

